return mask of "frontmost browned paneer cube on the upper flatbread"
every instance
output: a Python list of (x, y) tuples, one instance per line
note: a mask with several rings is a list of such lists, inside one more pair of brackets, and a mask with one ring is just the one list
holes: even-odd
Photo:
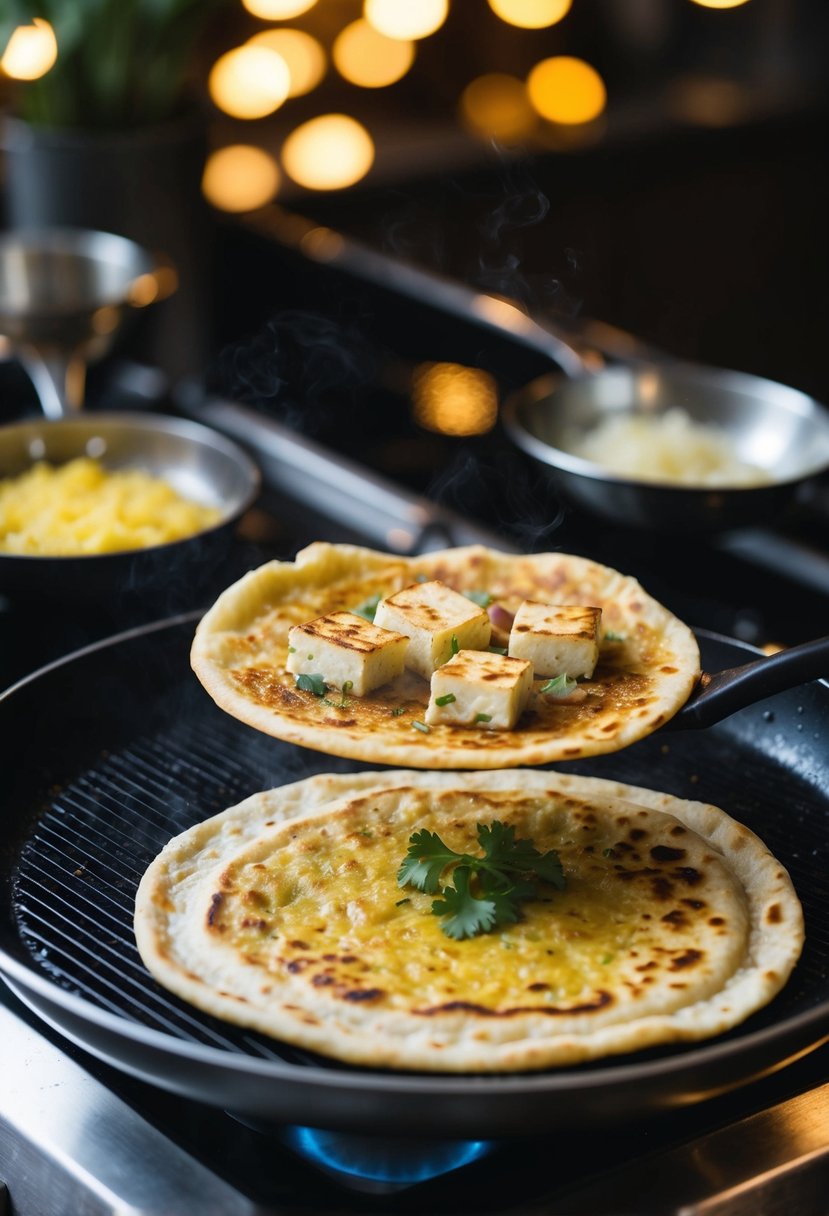
[(512, 731), (532, 691), (532, 664), (487, 651), (459, 651), (432, 676), (430, 726)]

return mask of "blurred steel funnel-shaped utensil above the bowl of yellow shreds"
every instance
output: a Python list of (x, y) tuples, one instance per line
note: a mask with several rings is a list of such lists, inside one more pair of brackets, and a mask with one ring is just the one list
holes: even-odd
[(128, 311), (175, 287), (167, 259), (112, 232), (0, 236), (0, 334), (29, 373), (46, 417), (81, 407), (86, 365), (107, 353)]

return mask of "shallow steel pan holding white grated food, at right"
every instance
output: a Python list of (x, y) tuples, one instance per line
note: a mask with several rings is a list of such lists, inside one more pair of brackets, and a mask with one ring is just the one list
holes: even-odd
[(829, 468), (829, 412), (819, 402), (693, 364), (546, 376), (504, 402), (503, 423), (570, 502), (659, 531), (778, 518)]

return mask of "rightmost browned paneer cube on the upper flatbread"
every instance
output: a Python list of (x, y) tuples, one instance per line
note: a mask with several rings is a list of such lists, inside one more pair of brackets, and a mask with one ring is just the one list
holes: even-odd
[(600, 608), (525, 599), (509, 631), (508, 653), (537, 676), (592, 676), (599, 657)]

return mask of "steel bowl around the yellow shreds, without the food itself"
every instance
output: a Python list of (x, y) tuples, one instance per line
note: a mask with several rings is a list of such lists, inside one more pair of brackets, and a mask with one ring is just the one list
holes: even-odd
[(0, 552), (0, 592), (47, 596), (56, 606), (63, 599), (157, 597), (176, 585), (197, 595), (259, 494), (254, 462), (232, 440), (197, 422), (125, 412), (0, 427), (0, 478), (16, 477), (38, 460), (63, 465), (77, 456), (94, 456), (107, 469), (140, 468), (164, 478), (184, 496), (218, 507), (220, 517), (193, 536), (150, 548), (79, 557)]

